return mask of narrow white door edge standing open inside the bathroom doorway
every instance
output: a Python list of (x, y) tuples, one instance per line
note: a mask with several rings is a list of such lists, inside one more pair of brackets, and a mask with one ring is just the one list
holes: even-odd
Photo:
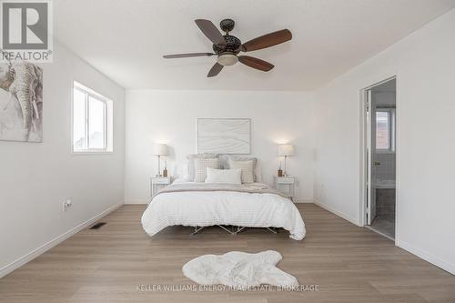
[(376, 109), (371, 100), (371, 90), (367, 91), (367, 224), (376, 217)]

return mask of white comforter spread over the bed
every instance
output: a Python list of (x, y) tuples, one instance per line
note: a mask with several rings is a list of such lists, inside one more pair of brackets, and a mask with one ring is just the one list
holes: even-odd
[(150, 237), (175, 225), (283, 227), (295, 240), (303, 239), (306, 233), (298, 208), (288, 198), (235, 191), (162, 193), (153, 198), (141, 221)]

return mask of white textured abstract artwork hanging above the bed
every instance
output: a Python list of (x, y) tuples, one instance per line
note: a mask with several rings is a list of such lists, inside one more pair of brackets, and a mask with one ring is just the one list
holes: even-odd
[(250, 154), (251, 119), (197, 118), (197, 153)]

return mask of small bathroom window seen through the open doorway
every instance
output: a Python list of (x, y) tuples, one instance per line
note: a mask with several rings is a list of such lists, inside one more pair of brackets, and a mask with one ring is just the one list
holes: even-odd
[(392, 108), (376, 111), (376, 150), (395, 151), (395, 111)]

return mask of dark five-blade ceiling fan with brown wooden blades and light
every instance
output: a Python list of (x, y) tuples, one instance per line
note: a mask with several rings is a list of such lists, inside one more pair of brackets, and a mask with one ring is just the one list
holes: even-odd
[(213, 51), (215, 53), (190, 53), (163, 56), (167, 59), (186, 58), (192, 56), (217, 56), (217, 63), (210, 69), (207, 77), (217, 76), (224, 66), (233, 66), (238, 61), (246, 66), (256, 68), (263, 72), (268, 72), (274, 66), (267, 61), (255, 58), (253, 56), (238, 56), (240, 52), (251, 52), (273, 45), (279, 45), (292, 39), (292, 34), (288, 29), (282, 29), (267, 35), (261, 35), (247, 43), (242, 44), (240, 39), (235, 35), (229, 35), (234, 29), (235, 22), (232, 19), (224, 19), (219, 23), (219, 27), (225, 35), (221, 35), (211, 21), (205, 19), (195, 20), (199, 29), (213, 42)]

